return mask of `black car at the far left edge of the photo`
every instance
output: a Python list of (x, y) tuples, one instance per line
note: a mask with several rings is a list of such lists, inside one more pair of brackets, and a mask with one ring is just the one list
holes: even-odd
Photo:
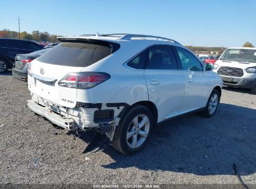
[(31, 53), (43, 49), (29, 40), (0, 39), (0, 73), (12, 68), (17, 54)]

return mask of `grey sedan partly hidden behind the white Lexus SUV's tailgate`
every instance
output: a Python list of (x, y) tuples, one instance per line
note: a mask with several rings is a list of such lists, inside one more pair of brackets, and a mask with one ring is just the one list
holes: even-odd
[(47, 50), (49, 50), (49, 48), (28, 54), (17, 54), (12, 68), (12, 76), (18, 80), (27, 81), (27, 64), (45, 53)]

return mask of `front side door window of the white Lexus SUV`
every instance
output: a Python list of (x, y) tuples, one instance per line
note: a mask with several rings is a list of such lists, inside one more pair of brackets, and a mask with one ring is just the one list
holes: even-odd
[(175, 47), (183, 70), (202, 71), (201, 63), (191, 52), (184, 48)]

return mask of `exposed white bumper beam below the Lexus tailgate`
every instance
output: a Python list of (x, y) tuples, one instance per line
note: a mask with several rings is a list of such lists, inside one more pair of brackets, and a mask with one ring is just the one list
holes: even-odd
[(33, 100), (27, 101), (27, 108), (34, 111), (34, 113), (37, 113), (40, 116), (49, 119), (49, 121), (57, 124), (60, 127), (63, 127), (64, 129), (67, 129), (69, 131), (75, 131), (77, 129), (77, 126), (75, 125), (73, 119), (62, 118), (58, 114), (55, 114), (53, 111), (50, 111), (50, 109), (35, 103)]

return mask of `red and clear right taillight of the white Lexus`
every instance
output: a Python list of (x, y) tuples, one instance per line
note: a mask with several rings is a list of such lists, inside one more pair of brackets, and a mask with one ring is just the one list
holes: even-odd
[(107, 81), (109, 78), (110, 75), (103, 72), (68, 73), (58, 84), (69, 88), (88, 89)]

